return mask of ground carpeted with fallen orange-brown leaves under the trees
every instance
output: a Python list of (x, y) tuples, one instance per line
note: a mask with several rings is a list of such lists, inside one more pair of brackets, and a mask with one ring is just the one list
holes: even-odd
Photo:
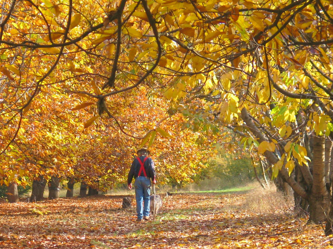
[(0, 248), (333, 248), (321, 226), (290, 210), (249, 211), (246, 197), (172, 195), (141, 223), (123, 196), (0, 204)]

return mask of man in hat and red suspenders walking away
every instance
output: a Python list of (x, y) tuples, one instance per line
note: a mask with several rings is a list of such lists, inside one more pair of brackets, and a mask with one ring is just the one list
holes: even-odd
[[(156, 172), (153, 159), (148, 157), (148, 149), (139, 149), (138, 157), (132, 162), (130, 172), (128, 173), (128, 188), (132, 189), (132, 179), (134, 181), (135, 199), (137, 201), (137, 221), (150, 220), (150, 187), (156, 184)], [(152, 180), (151, 180), (152, 179)]]

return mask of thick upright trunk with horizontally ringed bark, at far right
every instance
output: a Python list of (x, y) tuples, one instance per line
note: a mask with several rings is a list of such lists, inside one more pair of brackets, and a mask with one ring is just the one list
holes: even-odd
[(310, 190), (308, 222), (321, 223), (329, 211), (329, 192), (325, 180), (325, 138), (314, 136), (313, 141), (313, 185)]

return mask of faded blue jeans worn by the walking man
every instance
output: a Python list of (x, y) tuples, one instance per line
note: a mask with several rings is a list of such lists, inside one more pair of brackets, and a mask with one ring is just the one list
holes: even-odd
[[(150, 204), (150, 187), (152, 182), (150, 178), (145, 176), (138, 176), (134, 182), (135, 199), (137, 200), (137, 214), (138, 219), (142, 219), (143, 216), (149, 216), (149, 204)], [(142, 205), (144, 204), (144, 205)]]

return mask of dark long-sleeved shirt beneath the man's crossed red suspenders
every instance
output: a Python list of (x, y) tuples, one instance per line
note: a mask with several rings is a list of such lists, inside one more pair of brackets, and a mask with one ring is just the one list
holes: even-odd
[[(146, 156), (144, 156), (144, 155), (140, 156), (141, 162), (143, 162), (145, 160), (145, 157)], [(127, 177), (127, 184), (128, 185), (130, 185), (132, 183), (133, 177), (134, 178), (138, 177), (140, 167), (141, 167), (140, 162), (138, 161), (137, 158), (135, 158), (132, 162), (130, 172), (128, 173), (128, 177)], [(144, 163), (144, 167), (145, 167), (145, 170), (146, 170), (147, 177), (150, 177), (150, 178), (152, 178), (152, 180), (154, 180), (155, 177), (156, 177), (156, 172), (155, 172), (154, 162), (153, 162), (153, 159), (151, 157), (147, 158), (147, 160)], [(143, 170), (141, 171), (140, 176), (145, 176)]]

